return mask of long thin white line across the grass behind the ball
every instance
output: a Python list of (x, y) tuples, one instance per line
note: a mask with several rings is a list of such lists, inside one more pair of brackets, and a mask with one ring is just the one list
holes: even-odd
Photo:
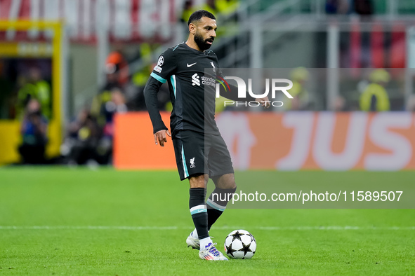
[[(243, 226), (219, 226), (217, 230), (244, 229)], [(256, 226), (250, 230), (415, 230), (415, 226)], [(0, 226), (0, 230), (192, 230), (177, 226)]]

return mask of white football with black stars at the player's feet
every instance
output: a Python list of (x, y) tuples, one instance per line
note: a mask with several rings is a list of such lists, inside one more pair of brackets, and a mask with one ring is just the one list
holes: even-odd
[(246, 230), (233, 230), (225, 239), (225, 253), (230, 258), (252, 258), (255, 251), (255, 237)]

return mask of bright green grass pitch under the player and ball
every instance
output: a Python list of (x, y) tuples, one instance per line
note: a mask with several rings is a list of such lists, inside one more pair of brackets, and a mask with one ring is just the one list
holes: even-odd
[[(411, 183), (415, 178), (415, 172), (268, 173), (287, 184), (312, 179), (347, 184), (390, 177)], [(261, 172), (238, 172), (237, 179), (255, 174)], [(177, 172), (4, 167), (0, 193), (0, 275), (415, 272), (414, 209), (228, 209), (211, 230), (218, 249), (223, 251), (231, 230), (244, 228), (256, 237), (258, 251), (251, 260), (209, 262), (186, 247), (185, 238), (192, 230), (188, 184), (178, 180)], [(368, 229), (372, 226), (376, 229)]]

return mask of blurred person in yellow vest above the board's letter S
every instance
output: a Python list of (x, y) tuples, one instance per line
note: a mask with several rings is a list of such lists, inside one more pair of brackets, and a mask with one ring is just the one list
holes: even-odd
[(390, 81), (390, 74), (384, 69), (376, 69), (369, 76), (371, 82), (360, 96), (362, 111), (388, 111), (390, 109), (388, 92), (384, 86)]

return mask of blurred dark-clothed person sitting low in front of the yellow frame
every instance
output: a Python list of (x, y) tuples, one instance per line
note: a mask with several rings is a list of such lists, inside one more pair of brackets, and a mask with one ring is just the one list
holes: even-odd
[(24, 164), (45, 163), (47, 127), (47, 120), (41, 114), (41, 104), (37, 99), (29, 99), (20, 129), (22, 144), (19, 146), (19, 153)]

